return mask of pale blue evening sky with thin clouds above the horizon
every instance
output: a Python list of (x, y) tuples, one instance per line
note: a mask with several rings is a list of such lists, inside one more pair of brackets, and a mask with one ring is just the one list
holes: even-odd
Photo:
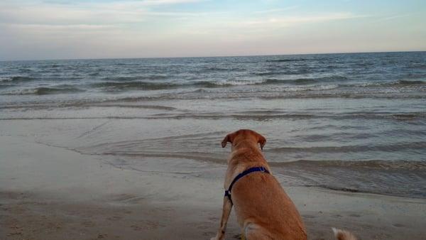
[(424, 0), (0, 0), (0, 60), (426, 50)]

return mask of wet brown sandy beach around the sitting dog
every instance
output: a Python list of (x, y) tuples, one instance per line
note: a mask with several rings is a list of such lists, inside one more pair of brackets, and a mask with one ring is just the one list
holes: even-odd
[[(218, 227), (224, 164), (185, 173), (151, 158), (136, 171), (29, 135), (2, 134), (0, 146), (0, 239), (209, 239)], [(426, 200), (284, 187), (310, 239), (333, 239), (331, 227), (360, 239), (426, 239)], [(226, 239), (238, 234), (232, 214)]]

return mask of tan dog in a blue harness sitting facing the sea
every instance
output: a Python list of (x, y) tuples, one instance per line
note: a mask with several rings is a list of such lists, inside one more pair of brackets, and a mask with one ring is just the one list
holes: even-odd
[[(231, 143), (231, 155), (225, 175), (222, 218), (211, 240), (224, 239), (233, 206), (242, 239), (307, 239), (302, 217), (263, 157), (266, 138), (256, 131), (241, 129), (226, 135), (222, 148), (227, 143)], [(339, 239), (356, 240), (348, 238), (353, 235), (347, 231), (333, 231)]]

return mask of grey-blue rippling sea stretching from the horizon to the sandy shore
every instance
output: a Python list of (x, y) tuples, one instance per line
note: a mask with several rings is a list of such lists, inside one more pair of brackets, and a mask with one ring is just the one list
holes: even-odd
[(426, 197), (426, 52), (0, 62), (11, 120), (96, 121), (56, 145), (130, 169), (249, 128), (287, 185)]

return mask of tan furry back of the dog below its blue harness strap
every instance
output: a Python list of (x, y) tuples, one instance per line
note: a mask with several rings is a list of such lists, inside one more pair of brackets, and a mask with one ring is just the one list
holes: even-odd
[(259, 239), (258, 234), (261, 239), (307, 238), (299, 212), (273, 175), (247, 175), (235, 184), (232, 195), (246, 239)]

